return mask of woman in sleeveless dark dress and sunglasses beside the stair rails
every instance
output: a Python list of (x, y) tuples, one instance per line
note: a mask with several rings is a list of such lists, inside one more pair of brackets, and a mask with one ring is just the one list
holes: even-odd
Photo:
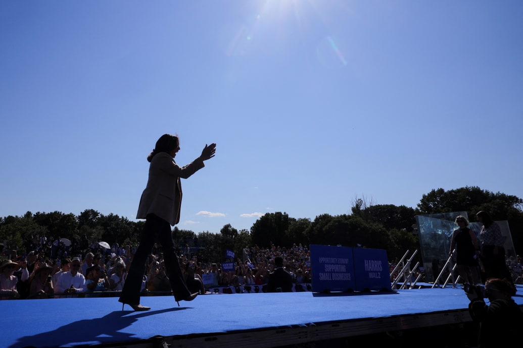
[(456, 249), (456, 265), (463, 283), (480, 284), (481, 275), (479, 264), (477, 263), (480, 247), (476, 234), (469, 229), (469, 220), (463, 215), (459, 215), (455, 222), (458, 224), (459, 229), (452, 232), (449, 256)]

